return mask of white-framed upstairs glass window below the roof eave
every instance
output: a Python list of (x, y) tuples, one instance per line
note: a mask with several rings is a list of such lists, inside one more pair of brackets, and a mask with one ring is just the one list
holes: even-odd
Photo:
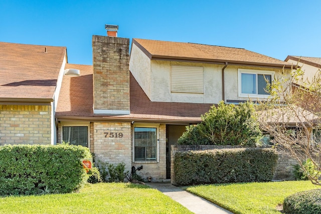
[(271, 84), (273, 71), (238, 69), (239, 97), (267, 98), (267, 84)]

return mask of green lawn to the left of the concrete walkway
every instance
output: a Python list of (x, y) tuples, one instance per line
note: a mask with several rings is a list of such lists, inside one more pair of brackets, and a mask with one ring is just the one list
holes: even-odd
[(0, 213), (192, 213), (145, 185), (88, 184), (77, 193), (0, 198)]

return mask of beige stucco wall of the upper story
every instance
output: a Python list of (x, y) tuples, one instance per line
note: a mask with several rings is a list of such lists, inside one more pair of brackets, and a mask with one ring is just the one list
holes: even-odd
[[(133, 46), (135, 47), (135, 46)], [(136, 56), (137, 55), (137, 56)], [(151, 60), (137, 47), (132, 50), (132, 58), (139, 58), (139, 63), (131, 62), (131, 72), (141, 85), (147, 96), (154, 102), (190, 102), (190, 103), (219, 103), (222, 95), (222, 68), (224, 65), (206, 63), (188, 63)], [(150, 69), (148, 65), (150, 64)], [(171, 66), (200, 66), (204, 71), (204, 93), (174, 93), (171, 92)], [(238, 92), (238, 69), (272, 71), (277, 77), (281, 68), (231, 66), (225, 68), (225, 101), (247, 100), (240, 97)], [(148, 83), (149, 81), (149, 83)], [(256, 98), (253, 98), (256, 99)]]

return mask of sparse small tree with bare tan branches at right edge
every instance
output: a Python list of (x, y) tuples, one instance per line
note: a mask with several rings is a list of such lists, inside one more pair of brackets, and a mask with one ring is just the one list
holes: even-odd
[[(313, 80), (303, 80), (297, 68), (284, 70), (268, 84), (269, 98), (258, 105), (260, 128), (272, 136), (271, 142), (283, 154), (294, 157), (309, 180), (321, 185), (319, 179), (321, 146), (315, 139), (321, 113), (320, 70)], [(304, 161), (310, 159), (315, 173), (309, 173)], [(312, 170), (313, 171), (313, 170)]]

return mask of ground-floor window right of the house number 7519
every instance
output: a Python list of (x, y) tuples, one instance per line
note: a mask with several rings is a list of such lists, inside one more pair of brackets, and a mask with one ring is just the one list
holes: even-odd
[(156, 160), (155, 127), (134, 127), (134, 160)]

